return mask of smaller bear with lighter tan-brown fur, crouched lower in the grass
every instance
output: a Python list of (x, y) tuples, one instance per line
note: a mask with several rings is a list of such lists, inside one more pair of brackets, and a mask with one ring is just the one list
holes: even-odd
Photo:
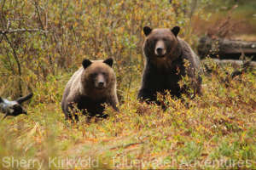
[(112, 69), (113, 59), (90, 61), (84, 59), (82, 67), (76, 71), (67, 82), (61, 108), (66, 119), (78, 121), (79, 117), (74, 114), (75, 109), (82, 111), (84, 115), (101, 116), (105, 109), (104, 104), (111, 105), (118, 111), (119, 103), (116, 94), (116, 77)]

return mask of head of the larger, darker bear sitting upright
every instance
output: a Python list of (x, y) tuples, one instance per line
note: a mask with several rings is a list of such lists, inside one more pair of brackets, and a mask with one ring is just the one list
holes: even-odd
[(172, 65), (172, 61), (181, 54), (178, 46), (177, 34), (180, 28), (175, 26), (171, 29), (143, 28), (146, 39), (143, 44), (143, 52), (148, 60), (164, 68), (166, 64)]

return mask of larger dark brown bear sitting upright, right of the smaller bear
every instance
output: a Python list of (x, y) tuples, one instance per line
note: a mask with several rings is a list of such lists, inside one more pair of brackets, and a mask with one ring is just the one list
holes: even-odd
[(146, 65), (138, 99), (156, 101), (156, 94), (165, 94), (166, 90), (180, 98), (181, 94), (188, 94), (188, 87), (181, 88), (178, 84), (186, 75), (191, 82), (189, 88), (194, 89), (194, 94), (201, 94), (200, 59), (187, 42), (177, 37), (179, 30), (178, 26), (172, 30), (143, 28)]

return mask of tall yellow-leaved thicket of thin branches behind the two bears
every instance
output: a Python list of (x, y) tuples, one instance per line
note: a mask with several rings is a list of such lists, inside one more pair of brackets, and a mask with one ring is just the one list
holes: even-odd
[(143, 70), (143, 26), (178, 25), (195, 42), (189, 21), (206, 2), (1, 1), (1, 94), (37, 91), (47, 78), (75, 71), (83, 58), (108, 57), (115, 59), (119, 92), (130, 89)]

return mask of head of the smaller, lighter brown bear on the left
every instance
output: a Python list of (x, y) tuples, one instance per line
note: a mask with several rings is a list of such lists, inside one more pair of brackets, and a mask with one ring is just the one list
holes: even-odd
[(84, 89), (90, 92), (103, 92), (108, 88), (112, 88), (115, 80), (115, 74), (112, 69), (113, 59), (90, 61), (83, 60), (84, 71), (82, 73), (81, 82)]

